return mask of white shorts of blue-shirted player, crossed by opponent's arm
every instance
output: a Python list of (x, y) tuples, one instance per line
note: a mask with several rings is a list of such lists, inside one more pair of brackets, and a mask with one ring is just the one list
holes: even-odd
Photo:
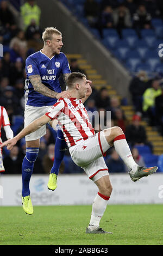
[[(48, 109), (51, 106), (46, 107), (33, 107), (33, 106), (25, 106), (24, 111), (24, 127), (32, 123), (35, 119), (42, 117), (42, 115), (46, 114)], [(35, 141), (35, 139), (41, 138), (46, 134), (46, 125), (43, 125), (41, 128), (36, 130), (35, 132), (30, 133), (26, 136), (26, 141)]]

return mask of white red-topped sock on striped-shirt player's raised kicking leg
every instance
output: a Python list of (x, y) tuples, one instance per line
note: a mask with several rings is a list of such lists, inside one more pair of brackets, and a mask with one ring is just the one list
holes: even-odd
[(121, 157), (123, 162), (126, 164), (127, 168), (131, 168), (131, 172), (135, 173), (137, 170), (138, 164), (134, 161), (131, 154), (129, 145), (126, 141), (125, 135), (117, 136), (114, 139), (114, 147), (118, 155)]

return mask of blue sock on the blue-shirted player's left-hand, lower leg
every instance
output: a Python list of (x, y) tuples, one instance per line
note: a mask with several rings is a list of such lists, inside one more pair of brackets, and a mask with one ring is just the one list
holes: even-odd
[(22, 163), (22, 197), (27, 197), (30, 194), (29, 181), (38, 154), (39, 148), (26, 148), (26, 156)]

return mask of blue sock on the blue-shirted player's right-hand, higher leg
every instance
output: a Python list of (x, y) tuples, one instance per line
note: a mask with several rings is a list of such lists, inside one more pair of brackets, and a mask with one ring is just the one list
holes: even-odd
[(60, 129), (57, 130), (57, 138), (55, 141), (55, 149), (54, 149), (54, 163), (51, 169), (51, 173), (55, 173), (58, 175), (59, 167), (62, 159), (64, 158), (66, 151), (66, 142), (64, 138), (64, 134)]

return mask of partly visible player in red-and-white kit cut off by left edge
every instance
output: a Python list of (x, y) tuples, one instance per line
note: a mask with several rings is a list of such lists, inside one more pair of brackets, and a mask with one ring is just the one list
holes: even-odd
[[(9, 139), (13, 138), (14, 133), (11, 130), (10, 127), (10, 120), (8, 117), (8, 113), (6, 109), (3, 106), (0, 106), (0, 145), (2, 144), (2, 139), (1, 139), (1, 129), (4, 129), (5, 131), (5, 136)], [(3, 166), (3, 156), (2, 156), (2, 148), (0, 150), (0, 173), (5, 172), (4, 166)]]

